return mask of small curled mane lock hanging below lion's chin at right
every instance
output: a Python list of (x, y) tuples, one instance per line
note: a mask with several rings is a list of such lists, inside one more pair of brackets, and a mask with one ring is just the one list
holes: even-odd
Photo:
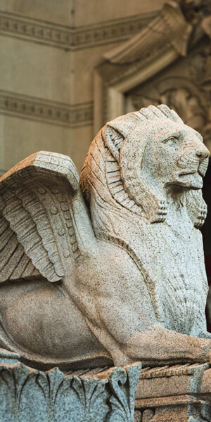
[(205, 200), (203, 200), (201, 189), (198, 191), (193, 191), (193, 189), (188, 191), (186, 194), (186, 204), (188, 215), (191, 218), (193, 225), (196, 229), (200, 229), (207, 217), (207, 204), (205, 203)]

